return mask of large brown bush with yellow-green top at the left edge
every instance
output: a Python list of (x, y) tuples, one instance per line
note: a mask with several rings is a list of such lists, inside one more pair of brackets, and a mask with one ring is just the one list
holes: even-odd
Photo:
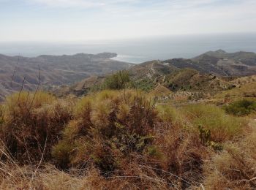
[(50, 159), (51, 146), (72, 118), (69, 104), (38, 92), (14, 94), (4, 104), (5, 120), (0, 137), (12, 156), (20, 162), (33, 163)]

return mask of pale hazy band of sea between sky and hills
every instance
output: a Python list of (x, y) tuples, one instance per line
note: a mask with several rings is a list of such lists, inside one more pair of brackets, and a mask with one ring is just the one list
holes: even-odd
[(208, 50), (256, 52), (256, 34), (201, 34), (94, 42), (1, 42), (0, 53), (9, 56), (118, 53), (114, 59), (141, 63), (153, 59), (192, 58)]

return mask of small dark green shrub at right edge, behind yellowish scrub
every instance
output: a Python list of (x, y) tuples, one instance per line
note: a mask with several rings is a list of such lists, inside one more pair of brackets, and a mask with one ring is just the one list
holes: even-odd
[(242, 99), (225, 106), (224, 109), (226, 113), (237, 116), (249, 115), (256, 110), (256, 102)]

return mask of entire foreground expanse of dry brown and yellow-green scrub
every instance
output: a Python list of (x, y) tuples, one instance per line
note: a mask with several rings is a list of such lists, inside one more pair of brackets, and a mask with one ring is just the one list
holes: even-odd
[(255, 189), (256, 123), (233, 109), (244, 104), (13, 94), (0, 107), (0, 189)]

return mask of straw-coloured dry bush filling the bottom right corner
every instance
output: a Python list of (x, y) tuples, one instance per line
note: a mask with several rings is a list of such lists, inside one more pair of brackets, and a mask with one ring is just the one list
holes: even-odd
[(224, 151), (206, 162), (206, 189), (255, 189), (255, 129), (244, 140), (225, 145)]

